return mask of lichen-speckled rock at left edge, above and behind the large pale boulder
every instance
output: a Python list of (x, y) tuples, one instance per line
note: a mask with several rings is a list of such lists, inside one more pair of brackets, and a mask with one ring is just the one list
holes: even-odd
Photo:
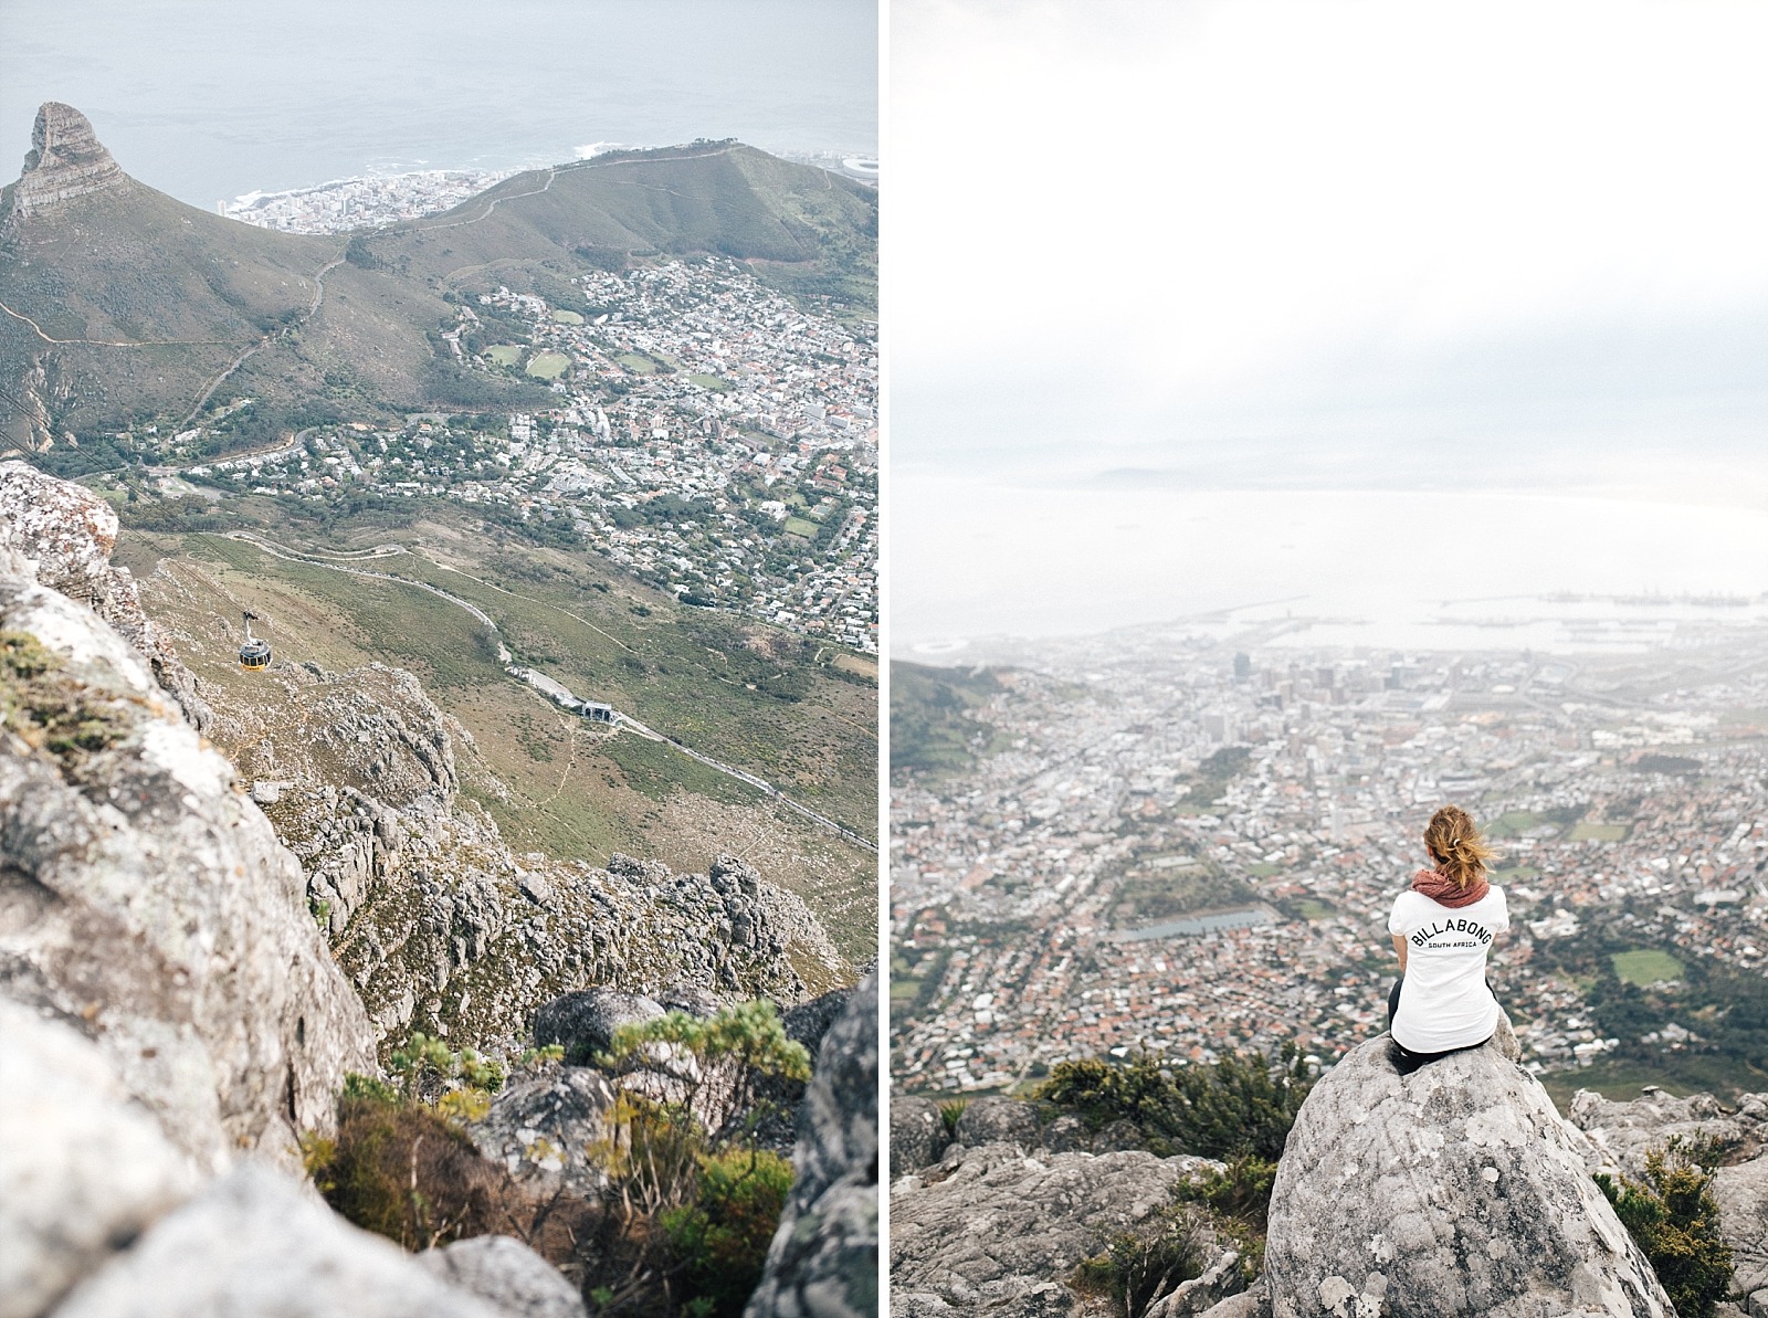
[(214, 714), (196, 691), (194, 675), (141, 611), (141, 592), (129, 569), (110, 562), (117, 548), (117, 514), (110, 504), (27, 463), (0, 463), (0, 544), (21, 555), (39, 583), (87, 604), (115, 627), (147, 661), (159, 687), (179, 701), (184, 717), (198, 731), (209, 730)]

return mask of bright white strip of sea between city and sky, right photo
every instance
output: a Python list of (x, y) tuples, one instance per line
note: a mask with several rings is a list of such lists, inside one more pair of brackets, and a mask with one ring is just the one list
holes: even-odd
[(1648, 648), (1768, 627), (1768, 511), (1499, 491), (898, 479), (891, 652), (1188, 620), (1273, 643)]

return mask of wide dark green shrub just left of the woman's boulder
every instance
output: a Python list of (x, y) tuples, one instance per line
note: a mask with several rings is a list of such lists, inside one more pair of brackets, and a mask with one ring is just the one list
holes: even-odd
[(1124, 1064), (1059, 1062), (1038, 1097), (1078, 1113), (1093, 1129), (1135, 1122), (1160, 1154), (1275, 1163), (1315, 1078), (1294, 1044), (1284, 1044), (1275, 1062), (1229, 1051), (1215, 1064), (1185, 1065), (1142, 1053)]

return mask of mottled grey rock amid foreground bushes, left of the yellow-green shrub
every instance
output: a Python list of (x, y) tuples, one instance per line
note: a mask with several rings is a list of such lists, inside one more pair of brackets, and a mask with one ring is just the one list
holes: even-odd
[(608, 1184), (589, 1148), (608, 1138), (615, 1092), (589, 1067), (548, 1067), (504, 1088), (467, 1127), (479, 1152), (518, 1180), (592, 1194)]

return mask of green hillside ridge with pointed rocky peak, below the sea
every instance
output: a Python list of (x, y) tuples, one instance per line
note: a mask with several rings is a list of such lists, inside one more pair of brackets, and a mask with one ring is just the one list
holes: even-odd
[[(737, 143), (622, 152), (504, 180), (446, 216), (304, 237), (187, 207), (124, 173), (90, 122), (46, 104), (0, 191), (0, 449), (129, 420), (182, 426), (210, 392), (301, 408), (446, 396), (444, 295), (557, 293), (647, 254), (751, 261), (792, 295), (875, 307), (877, 200)], [(484, 406), (536, 401), (532, 385)], [(541, 399), (543, 401), (543, 399)]]

